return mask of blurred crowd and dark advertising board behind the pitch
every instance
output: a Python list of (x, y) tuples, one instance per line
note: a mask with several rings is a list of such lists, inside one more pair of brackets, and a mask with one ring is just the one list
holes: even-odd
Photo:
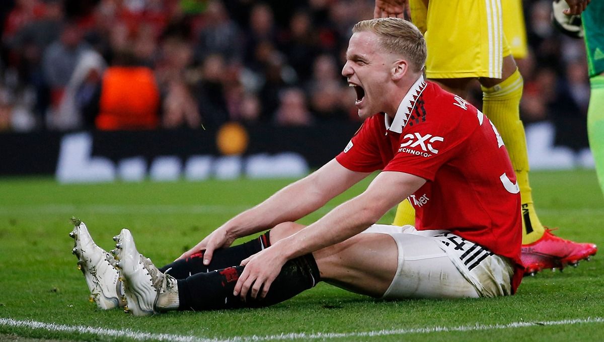
[[(533, 169), (593, 167), (582, 40), (524, 1)], [(0, 176), (293, 176), (359, 126), (340, 71), (373, 0), (2, 0)], [(480, 107), (478, 86), (472, 103)]]

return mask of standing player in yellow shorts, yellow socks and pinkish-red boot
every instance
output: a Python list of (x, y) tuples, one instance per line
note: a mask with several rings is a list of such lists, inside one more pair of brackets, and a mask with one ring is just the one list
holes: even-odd
[[(425, 32), (428, 44), (426, 77), (461, 97), (466, 95), (472, 82), (480, 82), (484, 114), (501, 132), (518, 179), (524, 228), (521, 259), (525, 273), (534, 275), (547, 268), (562, 270), (566, 265), (576, 266), (579, 261), (589, 260), (595, 255), (597, 246), (554, 235), (551, 229), (541, 224), (533, 205), (528, 182), (527, 144), (519, 113), (523, 81), (513, 57), (513, 52), (525, 48), (521, 46), (524, 27), (515, 24), (522, 16), (518, 2), (376, 0), (374, 17), (403, 17), (408, 6), (411, 21)], [(565, 2), (570, 5), (567, 14), (579, 14), (590, 0)], [(502, 9), (508, 12), (501, 13)], [(590, 125), (590, 131), (596, 131), (591, 129), (593, 127), (596, 125)], [(591, 141), (593, 150), (597, 152), (594, 148), (597, 142), (592, 144)], [(594, 155), (597, 160), (597, 153)], [(402, 226), (414, 222), (414, 206), (403, 201), (396, 212), (394, 224)]]

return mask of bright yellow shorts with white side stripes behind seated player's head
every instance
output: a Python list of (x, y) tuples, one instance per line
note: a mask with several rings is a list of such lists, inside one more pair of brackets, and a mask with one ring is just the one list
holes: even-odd
[[(410, 7), (411, 20), (425, 32), (428, 78), (501, 78), (503, 57), (511, 53), (501, 0), (431, 0), (428, 8), (422, 0), (410, 0)], [(524, 34), (524, 27), (515, 26), (515, 34)]]

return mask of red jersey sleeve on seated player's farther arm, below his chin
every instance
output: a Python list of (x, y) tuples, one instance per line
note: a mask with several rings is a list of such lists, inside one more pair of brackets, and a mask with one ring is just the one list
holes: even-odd
[(383, 119), (383, 116), (373, 115), (367, 118), (344, 151), (336, 156), (342, 166), (356, 172), (373, 172), (384, 167), (376, 141), (378, 118)]

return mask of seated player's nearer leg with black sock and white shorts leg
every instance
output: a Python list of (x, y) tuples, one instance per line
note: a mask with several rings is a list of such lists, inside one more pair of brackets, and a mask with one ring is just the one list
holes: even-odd
[[(269, 306), (312, 288), (317, 279), (367, 296), (387, 294), (390, 299), (480, 297), (439, 247), (440, 242), (425, 236), (396, 233), (400, 227), (378, 226), (373, 227), (376, 233), (361, 233), (318, 250), (312, 256), (307, 254), (286, 262), (263, 300), (248, 296), (242, 301), (233, 295), (236, 280), (244, 269), (235, 266), (178, 280), (178, 307), (207, 310)], [(303, 228), (297, 223), (278, 224), (270, 232), (271, 242)], [(399, 248), (405, 250), (400, 270)], [(396, 285), (390, 288), (395, 276)]]

